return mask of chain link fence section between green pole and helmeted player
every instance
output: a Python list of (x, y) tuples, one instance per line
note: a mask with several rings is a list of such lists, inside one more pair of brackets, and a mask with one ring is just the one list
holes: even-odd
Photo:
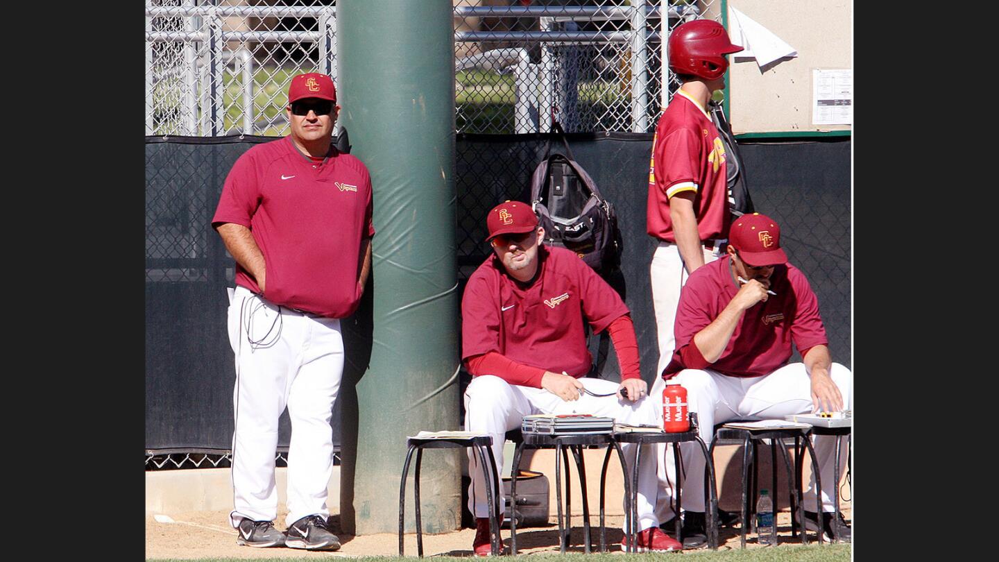
[[(456, 0), (459, 132), (652, 132), (679, 86), (662, 37), (721, 0)], [(667, 84), (665, 90), (662, 84)], [(666, 96), (666, 99), (663, 96)]]

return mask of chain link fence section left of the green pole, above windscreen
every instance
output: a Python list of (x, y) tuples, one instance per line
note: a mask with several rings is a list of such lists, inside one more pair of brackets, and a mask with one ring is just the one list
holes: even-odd
[(146, 134), (287, 134), (291, 77), (336, 80), (332, 4), (146, 0)]

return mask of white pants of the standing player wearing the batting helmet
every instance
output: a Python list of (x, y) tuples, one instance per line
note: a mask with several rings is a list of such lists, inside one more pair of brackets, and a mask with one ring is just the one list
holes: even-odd
[[(704, 248), (704, 263), (710, 263), (720, 256), (714, 248)], [(689, 276), (683, 267), (683, 258), (676, 244), (660, 241), (652, 253), (652, 262), (648, 266), (652, 286), (652, 308), (655, 312), (655, 331), (659, 343), (659, 361), (655, 368), (655, 378), (649, 397), (656, 401), (656, 412), (659, 425), (662, 422), (662, 390), (666, 387), (662, 380), (662, 370), (669, 364), (676, 339), (673, 336), (673, 324), (676, 320), (676, 307), (680, 302), (680, 289)], [(676, 482), (676, 469), (673, 461), (673, 448), (665, 443), (655, 445), (655, 457), (662, 459), (656, 469), (659, 479), (659, 494), (655, 500), (655, 515), (660, 521), (668, 521), (673, 517), (672, 486)]]

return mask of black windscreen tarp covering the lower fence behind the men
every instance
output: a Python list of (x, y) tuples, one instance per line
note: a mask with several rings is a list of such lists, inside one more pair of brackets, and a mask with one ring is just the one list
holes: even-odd
[[(568, 139), (576, 161), (617, 209), (624, 252), (620, 273), (610, 281), (631, 310), (642, 377), (651, 381), (658, 357), (648, 280), (655, 243), (645, 234), (651, 135), (570, 134)], [(274, 139), (147, 137), (147, 449), (230, 448), (235, 368), (226, 333), (226, 289), (233, 286), (234, 270), (210, 223), (233, 163), (254, 144), (270, 140)], [(545, 137), (537, 134), (458, 135), (460, 290), (488, 255), (489, 247), (483, 243), (486, 213), (505, 199), (526, 200), (530, 173), (545, 143)], [(847, 367), (851, 366), (850, 144), (843, 137), (740, 143), (753, 202), (758, 211), (780, 223), (782, 246), (818, 295), (833, 360)], [(379, 186), (374, 188), (378, 205)], [(591, 338), (590, 347), (599, 376), (617, 379), (616, 359), (606, 338)], [(455, 350), (456, 362), (460, 351)], [(797, 354), (792, 360), (799, 360)], [(338, 419), (335, 412), (334, 436), (339, 443)], [(287, 446), (289, 436), (286, 414), (279, 446)]]

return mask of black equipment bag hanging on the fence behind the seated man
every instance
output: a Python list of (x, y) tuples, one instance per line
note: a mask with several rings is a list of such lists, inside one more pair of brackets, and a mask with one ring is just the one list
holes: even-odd
[(610, 271), (620, 263), (622, 245), (613, 205), (572, 158), (557, 122), (552, 131), (561, 136), (565, 154), (552, 152), (549, 138), (530, 177), (530, 203), (544, 228), (544, 243), (575, 252), (597, 271)]

